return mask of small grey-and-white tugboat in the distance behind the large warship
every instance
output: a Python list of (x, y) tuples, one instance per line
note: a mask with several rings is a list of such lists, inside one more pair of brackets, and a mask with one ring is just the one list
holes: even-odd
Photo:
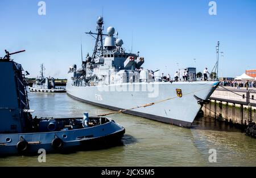
[(40, 65), (41, 71), (40, 76), (36, 78), (36, 82), (33, 83), (32, 87), (28, 87), (31, 92), (66, 92), (65, 88), (56, 88), (55, 79), (44, 78), (44, 65)]

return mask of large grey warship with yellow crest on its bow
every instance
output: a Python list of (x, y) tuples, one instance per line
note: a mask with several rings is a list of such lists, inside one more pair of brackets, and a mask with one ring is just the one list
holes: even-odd
[(130, 115), (190, 128), (218, 82), (163, 82), (154, 71), (143, 69), (144, 58), (127, 53), (114, 27), (104, 33), (104, 19), (97, 19), (97, 32), (86, 34), (96, 43), (77, 65), (69, 67), (67, 94), (74, 99)]

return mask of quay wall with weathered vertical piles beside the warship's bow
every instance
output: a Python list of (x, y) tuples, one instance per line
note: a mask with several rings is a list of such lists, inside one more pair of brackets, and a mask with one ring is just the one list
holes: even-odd
[(217, 88), (210, 96), (210, 104), (205, 104), (202, 110), (205, 116), (246, 126), (249, 122), (256, 122), (255, 96), (254, 90)]

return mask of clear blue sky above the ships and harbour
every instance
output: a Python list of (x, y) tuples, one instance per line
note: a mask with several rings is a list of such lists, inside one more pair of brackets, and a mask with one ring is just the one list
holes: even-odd
[(84, 56), (92, 54), (94, 40), (84, 32), (94, 32), (102, 14), (105, 32), (114, 27), (127, 52), (133, 44), (144, 69), (172, 76), (185, 67), (212, 70), (217, 41), (224, 52), (219, 77), (256, 69), (255, 0), (216, 0), (217, 15), (209, 15), (210, 0), (45, 0), (46, 15), (38, 2), (0, 0), (0, 56), (25, 49), (13, 58), (30, 77), (44, 63), (47, 76), (67, 78), (69, 66), (81, 65), (80, 41)]

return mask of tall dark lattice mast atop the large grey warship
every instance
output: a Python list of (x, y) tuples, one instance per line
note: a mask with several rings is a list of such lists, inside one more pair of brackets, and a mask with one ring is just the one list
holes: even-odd
[[(100, 56), (101, 54), (103, 54), (103, 39), (102, 39), (102, 36), (108, 36), (108, 35), (105, 35), (105, 34), (102, 33), (104, 31), (104, 26), (103, 26), (104, 21), (103, 21), (102, 16), (98, 17), (97, 24), (98, 24), (98, 26), (96, 28), (97, 33), (93, 33), (91, 31), (85, 32), (86, 34), (89, 34), (92, 37), (94, 37), (94, 39), (96, 39), (96, 43), (95, 43), (94, 50), (93, 50), (93, 55), (92, 55), (92, 60), (93, 61), (97, 56)], [(97, 37), (95, 37), (93, 35), (97, 35)]]

